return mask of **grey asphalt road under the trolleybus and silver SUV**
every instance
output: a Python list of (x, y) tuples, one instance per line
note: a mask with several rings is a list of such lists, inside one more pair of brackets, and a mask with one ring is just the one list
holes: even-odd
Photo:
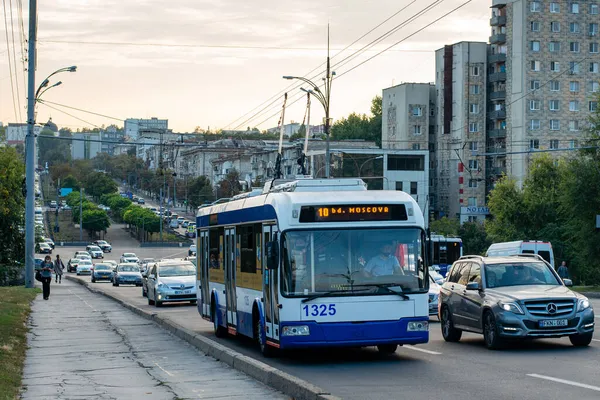
[[(155, 308), (141, 296), (141, 288), (94, 285), (344, 399), (600, 398), (600, 333), (588, 348), (574, 348), (565, 338), (489, 351), (475, 334), (464, 334), (459, 343), (444, 342), (439, 323), (433, 320), (428, 344), (404, 346), (392, 356), (366, 348), (302, 351), (264, 359), (249, 340), (216, 339), (212, 325), (200, 318), (195, 306)], [(592, 303), (600, 310), (600, 300)]]

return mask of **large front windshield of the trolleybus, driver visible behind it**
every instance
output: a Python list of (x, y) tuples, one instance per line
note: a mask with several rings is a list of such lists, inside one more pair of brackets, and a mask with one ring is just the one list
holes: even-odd
[(389, 294), (383, 286), (423, 291), (428, 282), (422, 237), (419, 229), (285, 232), (283, 294)]

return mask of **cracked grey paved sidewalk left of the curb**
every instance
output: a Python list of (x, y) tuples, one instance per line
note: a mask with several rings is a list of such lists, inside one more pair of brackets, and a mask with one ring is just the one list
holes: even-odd
[(30, 328), (23, 399), (287, 398), (68, 280)]

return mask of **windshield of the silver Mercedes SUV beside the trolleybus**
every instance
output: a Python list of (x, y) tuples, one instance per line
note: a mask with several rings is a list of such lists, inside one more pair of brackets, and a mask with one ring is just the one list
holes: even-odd
[(560, 285), (550, 267), (541, 262), (486, 264), (486, 287)]

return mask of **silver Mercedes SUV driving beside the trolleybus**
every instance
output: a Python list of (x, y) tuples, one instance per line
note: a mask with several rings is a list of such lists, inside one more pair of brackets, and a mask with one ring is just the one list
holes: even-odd
[(510, 339), (564, 336), (588, 346), (594, 310), (571, 285), (536, 254), (461, 257), (440, 290), (442, 336), (457, 342), (463, 331), (482, 333), (489, 349)]

